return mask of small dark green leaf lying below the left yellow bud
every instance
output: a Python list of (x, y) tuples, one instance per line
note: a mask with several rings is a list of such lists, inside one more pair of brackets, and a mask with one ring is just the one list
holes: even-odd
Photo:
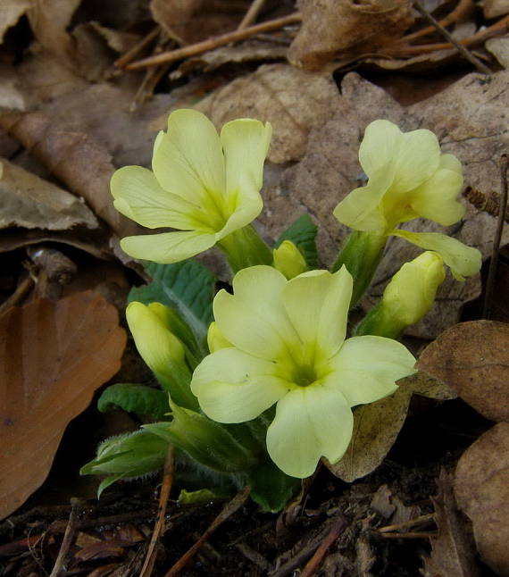
[(103, 391), (97, 401), (101, 413), (121, 408), (129, 413), (147, 414), (155, 420), (170, 412), (168, 394), (145, 385), (118, 382)]

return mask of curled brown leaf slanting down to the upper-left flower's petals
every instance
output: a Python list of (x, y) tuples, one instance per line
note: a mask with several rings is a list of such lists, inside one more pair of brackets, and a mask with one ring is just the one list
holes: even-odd
[(60, 130), (43, 113), (3, 113), (0, 128), (45, 163), (72, 193), (84, 197), (119, 236), (138, 230), (113, 207), (110, 179), (115, 167), (111, 155), (95, 140), (81, 132)]

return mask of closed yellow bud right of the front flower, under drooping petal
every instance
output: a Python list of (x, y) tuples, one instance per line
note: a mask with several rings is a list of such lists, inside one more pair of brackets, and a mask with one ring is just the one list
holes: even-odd
[(422, 253), (396, 272), (384, 291), (382, 306), (393, 320), (410, 326), (428, 313), (445, 278), (442, 257), (430, 251)]

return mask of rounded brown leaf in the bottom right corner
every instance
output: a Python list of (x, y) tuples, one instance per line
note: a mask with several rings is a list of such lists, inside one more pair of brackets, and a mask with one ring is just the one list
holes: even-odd
[(471, 518), (483, 561), (509, 576), (509, 423), (499, 422), (461, 456), (455, 472), (458, 505)]

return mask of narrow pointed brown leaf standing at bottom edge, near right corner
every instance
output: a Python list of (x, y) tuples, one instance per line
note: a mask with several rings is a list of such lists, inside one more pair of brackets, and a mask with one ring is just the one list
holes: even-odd
[(424, 557), (424, 577), (479, 577), (474, 548), (453, 493), (452, 475), (440, 474), (438, 497), (433, 499), (438, 537), (431, 540), (431, 555)]

